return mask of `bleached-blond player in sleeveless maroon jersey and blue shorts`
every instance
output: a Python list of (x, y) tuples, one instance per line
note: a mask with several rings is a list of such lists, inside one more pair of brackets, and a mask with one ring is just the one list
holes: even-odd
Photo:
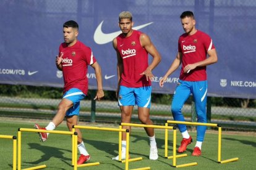
[[(117, 54), (117, 99), (121, 110), (122, 123), (130, 123), (134, 105), (138, 106), (138, 117), (143, 124), (153, 124), (150, 119), (151, 81), (153, 70), (161, 56), (149, 36), (132, 30), (132, 14), (123, 11), (119, 14), (119, 27), (122, 31), (113, 39)], [(148, 53), (153, 57), (148, 65)], [(130, 126), (123, 126), (129, 129)], [(150, 139), (150, 160), (158, 159), (155, 133), (153, 128), (145, 127)], [(122, 159), (126, 158), (126, 133), (122, 133)], [(119, 160), (119, 156), (113, 158)]]

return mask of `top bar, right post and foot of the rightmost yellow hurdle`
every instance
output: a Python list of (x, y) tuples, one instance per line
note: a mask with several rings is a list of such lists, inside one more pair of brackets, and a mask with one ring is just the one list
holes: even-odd
[(237, 161), (239, 158), (231, 158), (229, 160), (221, 161), (221, 125), (215, 123), (198, 123), (198, 122), (188, 122), (188, 121), (171, 121), (168, 120), (167, 123), (172, 124), (187, 124), (194, 126), (210, 126), (210, 127), (218, 127), (218, 163), (229, 163), (233, 161)]

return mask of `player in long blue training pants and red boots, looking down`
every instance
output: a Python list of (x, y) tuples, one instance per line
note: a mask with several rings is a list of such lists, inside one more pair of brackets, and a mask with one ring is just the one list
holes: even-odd
[[(181, 14), (181, 23), (185, 31), (179, 37), (178, 52), (171, 67), (160, 80), (160, 87), (179, 65), (182, 63), (179, 82), (174, 92), (171, 112), (176, 121), (185, 121), (181, 109), (192, 93), (197, 111), (197, 121), (207, 123), (206, 104), (207, 104), (207, 72), (206, 66), (216, 63), (218, 60), (215, 46), (208, 34), (195, 28), (195, 18), (191, 11), (185, 11)], [(208, 57), (207, 57), (208, 54)], [(182, 134), (179, 153), (185, 152), (187, 145), (192, 142), (192, 137), (187, 132), (185, 124), (178, 124), (179, 131)], [(205, 137), (206, 126), (197, 126), (197, 143), (195, 144), (193, 156), (201, 155), (202, 142)]]

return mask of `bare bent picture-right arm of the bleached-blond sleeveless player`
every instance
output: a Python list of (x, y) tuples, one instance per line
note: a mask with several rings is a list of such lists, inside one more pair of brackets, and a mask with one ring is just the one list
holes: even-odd
[(147, 34), (140, 35), (140, 44), (142, 45), (142, 47), (146, 49), (148, 54), (150, 54), (153, 57), (153, 60), (150, 63), (150, 65), (148, 65), (148, 68), (145, 71), (143, 71), (143, 73), (141, 73), (141, 75), (145, 75), (148, 80), (148, 78), (151, 79), (154, 77), (151, 71), (158, 65), (158, 63), (160, 63), (161, 55), (159, 54), (159, 52), (157, 51), (156, 47), (151, 42)]

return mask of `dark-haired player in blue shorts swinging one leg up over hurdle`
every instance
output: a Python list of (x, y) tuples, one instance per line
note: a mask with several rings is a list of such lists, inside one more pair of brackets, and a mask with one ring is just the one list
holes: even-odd
[[(63, 25), (64, 42), (59, 46), (59, 55), (56, 57), (56, 67), (63, 72), (64, 91), (58, 111), (53, 120), (46, 127), (40, 127), (35, 124), (35, 129), (54, 130), (66, 116), (67, 127), (72, 131), (72, 126), (77, 125), (80, 100), (88, 92), (87, 68), (90, 65), (95, 70), (98, 91), (95, 100), (101, 100), (104, 97), (101, 67), (96, 62), (90, 47), (85, 46), (77, 39), (79, 35), (79, 25), (77, 22), (70, 20)], [(78, 145), (80, 152), (77, 164), (83, 164), (90, 160), (85, 145), (83, 144), (82, 134), (79, 129), (75, 129), (78, 136)], [(49, 133), (38, 132), (41, 142), (48, 139)]]

